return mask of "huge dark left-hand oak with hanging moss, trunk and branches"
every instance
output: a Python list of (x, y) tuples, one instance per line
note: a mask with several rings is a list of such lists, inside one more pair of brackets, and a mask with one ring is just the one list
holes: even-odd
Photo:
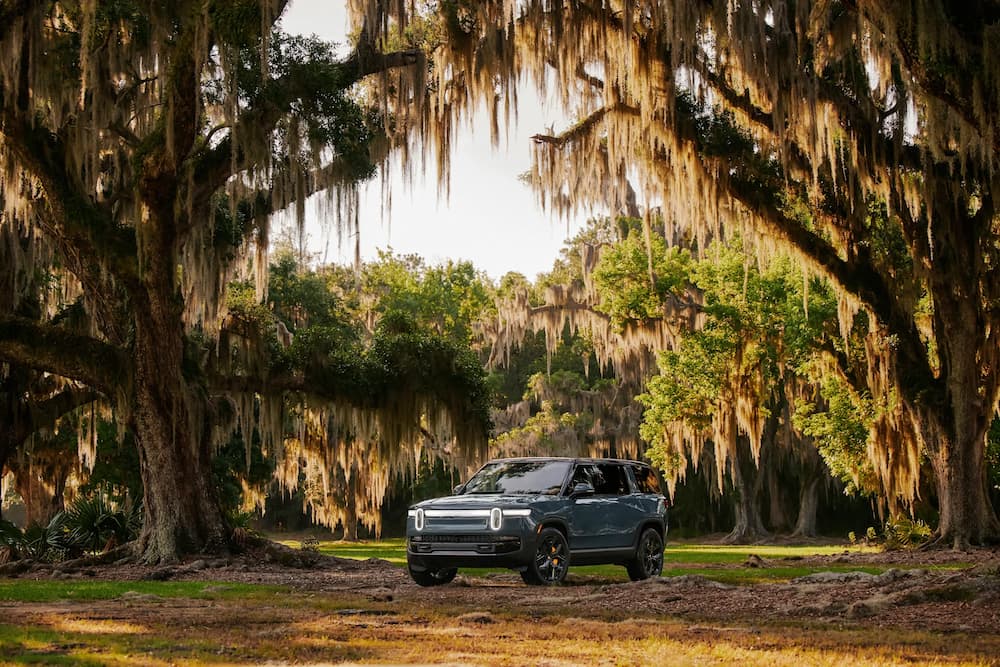
[[(372, 173), (382, 119), (352, 99), (354, 85), (422, 62), (365, 40), (338, 59), (331, 45), (278, 32), (284, 6), (0, 2), (0, 224), (47, 239), (90, 323), (81, 334), (5, 310), (0, 359), (70, 378), (114, 405), (139, 452), (137, 551), (150, 562), (228, 547), (211, 471), (233, 407), (253, 410), (260, 396), (270, 409), (250, 417), (271, 418), (289, 392), (308, 391), (314, 404), (403, 424), (382, 437), (416, 437), (419, 415), (407, 408), (420, 413), (471, 370), (448, 365), (453, 349), (437, 350), (428, 376), (440, 384), (414, 400), (403, 391), (426, 370), (405, 348), (415, 341), (396, 339), (365, 363), (334, 356), (293, 369), (288, 357), (266, 358), (272, 337), (254, 322), (223, 321), (226, 287), (251, 250), (263, 291), (271, 212), (336, 188), (340, 201), (356, 201), (351, 184)], [(216, 344), (223, 325), (233, 330)], [(403, 362), (397, 383), (392, 364)], [(356, 375), (369, 371), (377, 377)], [(477, 382), (459, 378), (464, 398), (445, 400), (473, 447), (485, 431)], [(263, 430), (273, 434), (277, 421)]]

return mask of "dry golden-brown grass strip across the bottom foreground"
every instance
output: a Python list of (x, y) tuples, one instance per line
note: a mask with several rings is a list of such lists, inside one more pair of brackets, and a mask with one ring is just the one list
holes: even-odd
[(995, 636), (573, 612), (429, 608), (361, 592), (4, 603), (0, 663), (779, 667), (983, 665), (1000, 655)]

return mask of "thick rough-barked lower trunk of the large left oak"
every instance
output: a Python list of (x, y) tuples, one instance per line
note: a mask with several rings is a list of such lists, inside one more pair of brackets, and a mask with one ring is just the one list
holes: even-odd
[[(138, 310), (138, 309), (137, 309)], [(139, 450), (147, 562), (228, 549), (212, 479), (208, 401), (183, 377), (183, 334), (169, 304), (137, 313), (132, 426)]]

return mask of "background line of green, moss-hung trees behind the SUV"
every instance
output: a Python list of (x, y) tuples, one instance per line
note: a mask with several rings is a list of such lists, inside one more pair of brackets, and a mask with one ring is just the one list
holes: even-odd
[[(591, 251), (598, 258), (588, 268)], [(498, 318), (511, 295), (527, 293), (535, 309), (528, 317), (539, 319), (546, 292), (575, 285), (582, 293), (585, 281), (593, 283), (594, 299), (578, 305), (600, 316), (601, 331), (573, 330), (561, 320), (553, 346), (544, 326), (526, 330), (498, 363), (492, 331), (503, 324)], [(604, 328), (662, 320), (668, 302), (685, 291), (698, 295), (697, 326), (677, 332), (669, 347), (628, 357), (642, 365), (643, 353), (654, 355), (645, 375), (602, 368), (594, 339), (606, 335)], [(658, 237), (647, 247), (638, 219), (595, 219), (535, 281), (508, 274), (494, 282), (470, 262), (428, 266), (392, 252), (359, 271), (314, 266), (286, 237), (272, 253), (267, 293), (267, 303), (258, 305), (252, 281), (234, 283), (232, 317), (255, 321), (255, 330), (284, 332), (272, 344), (298, 364), (333, 350), (361, 354), (387, 329), (467, 350), (470, 363), (488, 371), (495, 426), (489, 456), (651, 459), (667, 481), (680, 534), (725, 532), (731, 541), (753, 541), (863, 534), (900, 517), (935, 520), (929, 467), (920, 504), (900, 509), (882, 495), (868, 455), (873, 401), (825, 361), (831, 348), (849, 354), (852, 344), (841, 337), (829, 286), (789, 258), (761, 267), (739, 239), (713, 242), (699, 257), (694, 248), (668, 248)], [(65, 509), (67, 495), (96, 496), (115, 507), (142, 498), (134, 447), (114, 415), (84, 411), (73, 419), (82, 430), (36, 433), (9, 465), (8, 493), (21, 497), (24, 522), (47, 525)], [(90, 461), (79, 457), (81, 433), (96, 443)], [(299, 437), (293, 428), (282, 434), (286, 447)], [(1000, 438), (991, 438), (994, 494), (998, 450)], [(213, 475), (234, 523), (252, 520), (269, 529), (317, 523), (351, 539), (359, 531), (379, 534), (383, 526), (398, 531), (410, 502), (446, 493), (467, 474), (420, 449), (413, 452), (414, 474), (387, 471), (382, 493), (369, 497), (383, 471), (348, 454), (319, 461), (302, 450), (296, 465), (278, 470), (260, 431), (248, 426), (219, 450)]]

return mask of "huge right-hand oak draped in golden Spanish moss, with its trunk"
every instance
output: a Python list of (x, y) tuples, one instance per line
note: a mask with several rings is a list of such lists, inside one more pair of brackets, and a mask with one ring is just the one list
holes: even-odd
[[(415, 5), (362, 7), (391, 32)], [(542, 200), (617, 213), (634, 176), (662, 206), (665, 238), (704, 247), (743, 231), (761, 254), (780, 245), (825, 275), (844, 329), (868, 319), (870, 372), (842, 370), (878, 406), (871, 454), (886, 495), (912, 499), (926, 455), (938, 540), (1000, 539), (985, 466), (1000, 397), (995, 3), (416, 7), (447, 46), (434, 73), (464, 93), (426, 105), (442, 129), (425, 135), (447, 136), (477, 103), (502, 116), (526, 73), (555, 85), (579, 121), (535, 137)], [(427, 90), (439, 99), (451, 85)]]

